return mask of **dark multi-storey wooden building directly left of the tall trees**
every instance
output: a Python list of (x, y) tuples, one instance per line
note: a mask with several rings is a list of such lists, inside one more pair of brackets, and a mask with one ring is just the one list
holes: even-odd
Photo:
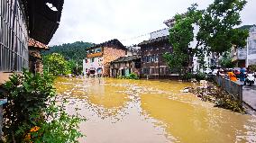
[(144, 40), (138, 46), (141, 47), (142, 54), (142, 78), (169, 78), (170, 72), (167, 63), (162, 55), (172, 52), (168, 36), (156, 39)]

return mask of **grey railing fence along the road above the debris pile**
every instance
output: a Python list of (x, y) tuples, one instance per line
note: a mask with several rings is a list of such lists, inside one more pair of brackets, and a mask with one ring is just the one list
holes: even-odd
[(214, 76), (215, 83), (223, 87), (229, 94), (242, 102), (242, 85), (239, 85), (222, 76)]

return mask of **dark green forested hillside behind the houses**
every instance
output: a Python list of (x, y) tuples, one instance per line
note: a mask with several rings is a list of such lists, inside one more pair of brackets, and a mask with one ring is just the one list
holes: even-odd
[(92, 46), (93, 43), (84, 42), (84, 41), (76, 41), (74, 43), (65, 43), (58, 46), (50, 47), (50, 50), (42, 51), (42, 55), (49, 55), (50, 53), (59, 53), (66, 60), (73, 59), (78, 63), (82, 62), (83, 58), (86, 58), (86, 49)]

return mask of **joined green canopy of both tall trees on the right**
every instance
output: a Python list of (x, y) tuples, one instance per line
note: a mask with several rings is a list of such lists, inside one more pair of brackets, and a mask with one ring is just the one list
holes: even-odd
[[(197, 4), (192, 4), (187, 13), (176, 14), (174, 26), (169, 30), (173, 52), (163, 56), (170, 69), (187, 71), (194, 55), (204, 67), (206, 54), (219, 55), (233, 45), (244, 47), (249, 32), (234, 27), (242, 23), (240, 12), (246, 3), (245, 0), (215, 0), (206, 10), (197, 10)], [(191, 44), (193, 40), (196, 44)]]

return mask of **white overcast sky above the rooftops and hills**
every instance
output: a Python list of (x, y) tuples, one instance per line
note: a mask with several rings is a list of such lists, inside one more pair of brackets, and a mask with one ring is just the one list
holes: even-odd
[[(101, 43), (118, 39), (123, 45), (149, 38), (147, 33), (166, 28), (163, 21), (185, 13), (190, 4), (206, 8), (214, 0), (65, 0), (59, 29), (50, 45), (74, 41)], [(256, 0), (248, 0), (242, 24), (255, 24)], [(141, 36), (144, 35), (145, 36)]]

